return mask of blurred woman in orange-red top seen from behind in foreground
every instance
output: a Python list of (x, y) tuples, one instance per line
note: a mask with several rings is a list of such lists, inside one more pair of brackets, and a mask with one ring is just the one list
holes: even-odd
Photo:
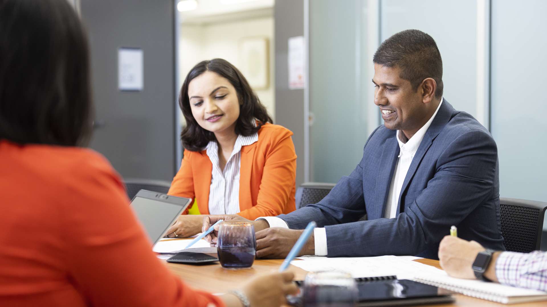
[(295, 293), (292, 273), (214, 296), (168, 271), (119, 175), (78, 147), (91, 131), (89, 79), (66, 0), (0, 0), (0, 306), (273, 307)]

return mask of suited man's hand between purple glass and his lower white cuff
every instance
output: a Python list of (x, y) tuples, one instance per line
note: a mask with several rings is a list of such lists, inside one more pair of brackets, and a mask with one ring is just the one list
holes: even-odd
[[(283, 259), (287, 257), (290, 249), (300, 238), (304, 229), (287, 229), (282, 227), (272, 227), (256, 234), (257, 237), (257, 258)], [(300, 250), (298, 256), (315, 255), (315, 238), (313, 233), (307, 240), (304, 247)]]

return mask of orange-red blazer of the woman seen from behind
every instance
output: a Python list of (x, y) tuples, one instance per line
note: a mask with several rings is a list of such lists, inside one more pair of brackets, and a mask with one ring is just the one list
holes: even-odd
[(96, 152), (0, 140), (0, 306), (224, 306), (168, 271)]

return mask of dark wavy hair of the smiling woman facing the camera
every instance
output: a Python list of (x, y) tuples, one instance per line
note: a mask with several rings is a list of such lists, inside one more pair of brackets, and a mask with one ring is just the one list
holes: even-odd
[[(260, 129), (264, 123), (273, 123), (266, 108), (260, 103), (258, 96), (247, 82), (247, 79), (230, 62), (222, 58), (214, 58), (210, 61), (201, 61), (194, 66), (186, 76), (181, 88), (181, 95), (178, 97), (178, 104), (186, 120), (186, 127), (181, 133), (182, 146), (190, 151), (200, 151), (209, 143), (217, 140), (214, 133), (203, 129), (192, 115), (190, 99), (188, 97), (188, 85), (197, 76), (205, 72), (213, 72), (230, 81), (237, 92), (240, 102), (240, 116), (236, 121), (235, 133), (248, 137)], [(258, 125), (255, 126), (255, 120)]]

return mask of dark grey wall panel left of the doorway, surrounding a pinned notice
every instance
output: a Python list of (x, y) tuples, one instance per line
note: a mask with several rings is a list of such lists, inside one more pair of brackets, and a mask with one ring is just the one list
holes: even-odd
[[(124, 178), (171, 181), (174, 158), (172, 1), (82, 0), (97, 127), (90, 143)], [(141, 48), (144, 90), (118, 90), (118, 48)]]

